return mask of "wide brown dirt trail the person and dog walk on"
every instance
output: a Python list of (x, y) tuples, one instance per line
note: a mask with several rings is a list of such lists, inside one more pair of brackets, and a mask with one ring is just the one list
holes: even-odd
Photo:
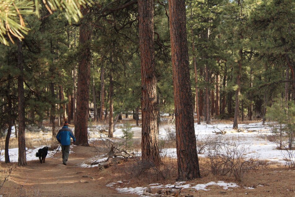
[[(62, 164), (60, 151), (45, 163), (29, 161), (26, 167), (12, 169), (10, 181), (1, 189), (3, 196), (133, 196), (120, 195), (105, 185), (112, 180), (108, 171), (83, 168), (78, 164), (95, 155), (94, 148), (73, 147), (67, 165)], [(10, 165), (17, 165), (11, 163)], [(2, 167), (7, 164), (1, 163)], [(89, 176), (89, 177), (83, 177)], [(92, 179), (93, 177), (93, 179)]]

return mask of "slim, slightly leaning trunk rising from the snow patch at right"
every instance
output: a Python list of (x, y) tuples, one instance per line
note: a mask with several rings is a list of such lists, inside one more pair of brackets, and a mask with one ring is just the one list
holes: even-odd
[[(241, 36), (243, 39), (243, 36)], [(237, 74), (237, 90), (235, 92), (235, 117), (234, 117), (234, 124), (233, 129), (238, 128), (238, 121), (239, 121), (239, 95), (241, 89), (241, 74), (242, 74), (242, 61), (243, 61), (243, 49), (239, 50), (239, 61), (238, 61), (238, 74)]]

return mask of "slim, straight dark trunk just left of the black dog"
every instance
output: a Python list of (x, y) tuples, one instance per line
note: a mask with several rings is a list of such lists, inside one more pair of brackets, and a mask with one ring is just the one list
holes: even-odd
[(26, 141), (25, 141), (25, 93), (24, 93), (24, 57), (22, 42), (17, 40), (17, 66), (20, 74), (18, 84), (18, 165), (26, 166)]

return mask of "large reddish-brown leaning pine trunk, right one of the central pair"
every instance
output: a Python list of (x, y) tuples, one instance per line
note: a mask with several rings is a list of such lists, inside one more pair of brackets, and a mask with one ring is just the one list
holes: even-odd
[(178, 181), (200, 177), (191, 102), (185, 0), (169, 0)]

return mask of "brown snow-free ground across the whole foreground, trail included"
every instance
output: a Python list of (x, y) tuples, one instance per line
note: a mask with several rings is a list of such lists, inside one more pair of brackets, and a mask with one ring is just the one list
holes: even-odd
[[(132, 176), (131, 162), (112, 166), (105, 170), (97, 167), (83, 168), (79, 164), (88, 158), (95, 156), (92, 147), (74, 146), (67, 166), (62, 164), (61, 153), (58, 152), (53, 158), (47, 158), (46, 163), (39, 160), (29, 161), (26, 167), (18, 167), (16, 163), (10, 165), (1, 163), (1, 170), (13, 166), (10, 180), (5, 182), (0, 195), (3, 196), (136, 196), (130, 194), (118, 194), (114, 188), (106, 187), (107, 184), (116, 181), (124, 181), (119, 184), (123, 187), (148, 187), (149, 184), (173, 184), (177, 178), (176, 160), (168, 160), (165, 164), (170, 168), (168, 180), (156, 181), (149, 173), (143, 176)], [(202, 161), (200, 161), (202, 169)], [(201, 170), (202, 173), (202, 170)], [(208, 186), (204, 190), (182, 189), (181, 194), (187, 196), (295, 196), (294, 184), (295, 170), (276, 166), (263, 167), (257, 171), (250, 171), (244, 175), (243, 183), (237, 183), (240, 187), (224, 190), (219, 186)], [(3, 180), (3, 173), (1, 177)], [(130, 182), (129, 182), (130, 181)], [(200, 179), (187, 181), (184, 184), (195, 186), (206, 184), (211, 181), (235, 182), (233, 178), (204, 175)], [(246, 189), (254, 187), (255, 189)], [(159, 189), (152, 189), (156, 193)]]

